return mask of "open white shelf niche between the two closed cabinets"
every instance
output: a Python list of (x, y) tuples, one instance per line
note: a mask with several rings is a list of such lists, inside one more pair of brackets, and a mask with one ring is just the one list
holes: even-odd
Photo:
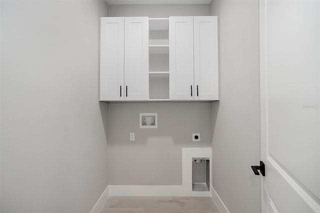
[(149, 18), (149, 100), (169, 99), (169, 18)]

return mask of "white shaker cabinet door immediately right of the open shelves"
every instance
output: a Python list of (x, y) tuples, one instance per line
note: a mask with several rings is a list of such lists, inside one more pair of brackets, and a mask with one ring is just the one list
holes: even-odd
[(193, 17), (169, 17), (169, 87), (171, 100), (192, 100)]

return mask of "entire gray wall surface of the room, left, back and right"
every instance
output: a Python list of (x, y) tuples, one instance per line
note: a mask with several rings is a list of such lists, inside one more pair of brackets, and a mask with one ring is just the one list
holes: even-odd
[[(221, 100), (98, 103), (98, 17), (106, 11), (218, 15)], [(213, 186), (228, 209), (258, 212), (260, 182), (250, 170), (260, 158), (258, 82), (256, 1), (213, 1), (211, 11), (1, 1), (0, 211), (88, 212), (108, 183), (181, 184), (181, 147), (212, 145)], [(158, 129), (139, 129), (139, 112), (158, 112)]]

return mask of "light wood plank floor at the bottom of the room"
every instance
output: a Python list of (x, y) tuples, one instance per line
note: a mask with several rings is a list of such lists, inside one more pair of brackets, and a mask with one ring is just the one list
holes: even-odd
[(110, 196), (101, 213), (219, 213), (211, 197)]

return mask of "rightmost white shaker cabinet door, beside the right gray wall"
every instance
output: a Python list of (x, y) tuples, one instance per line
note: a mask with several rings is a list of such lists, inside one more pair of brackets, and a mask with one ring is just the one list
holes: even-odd
[(194, 99), (218, 100), (217, 16), (194, 16)]

